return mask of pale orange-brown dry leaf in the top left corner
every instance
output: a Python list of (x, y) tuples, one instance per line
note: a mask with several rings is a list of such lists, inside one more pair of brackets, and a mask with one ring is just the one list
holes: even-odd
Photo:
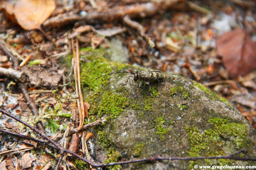
[(52, 14), (54, 0), (7, 0), (0, 3), (0, 10), (25, 30), (40, 29), (40, 25)]

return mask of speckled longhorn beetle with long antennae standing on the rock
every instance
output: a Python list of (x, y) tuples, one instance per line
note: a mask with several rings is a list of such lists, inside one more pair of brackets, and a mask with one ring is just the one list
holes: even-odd
[[(113, 74), (113, 73), (131, 73), (131, 74), (134, 75), (134, 81), (137, 81), (138, 79), (140, 79), (140, 85), (139, 85), (139, 88), (138, 88), (138, 90), (137, 90), (137, 92), (136, 92), (136, 94), (134, 96), (134, 99), (136, 98), (136, 95), (138, 94), (138, 91), (140, 89), (142, 81), (144, 81), (144, 83), (149, 85), (150, 95), (152, 96), (152, 94), (151, 94), (151, 87), (150, 87), (150, 81), (153, 81), (153, 80), (158, 80), (159, 81), (159, 79), (163, 78), (162, 73), (160, 71), (158, 71), (158, 70), (142, 70), (142, 71), (136, 71), (136, 73), (133, 73), (132, 69), (129, 69), (129, 71), (117, 71), (117, 72), (112, 72), (112, 73), (108, 73), (108, 74), (104, 74), (104, 75), (109, 75), (109, 74)], [(102, 77), (104, 75), (101, 75), (100, 77)], [(98, 78), (100, 78), (100, 77), (98, 77)], [(128, 79), (130, 77), (131, 76), (129, 76)], [(128, 81), (128, 79), (127, 79), (127, 81)], [(126, 81), (126, 83), (127, 83), (127, 81)]]

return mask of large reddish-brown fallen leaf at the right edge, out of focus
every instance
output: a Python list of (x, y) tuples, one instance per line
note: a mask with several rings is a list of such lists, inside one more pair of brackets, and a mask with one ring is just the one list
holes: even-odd
[(242, 29), (222, 34), (216, 40), (218, 55), (231, 78), (256, 68), (256, 42)]

